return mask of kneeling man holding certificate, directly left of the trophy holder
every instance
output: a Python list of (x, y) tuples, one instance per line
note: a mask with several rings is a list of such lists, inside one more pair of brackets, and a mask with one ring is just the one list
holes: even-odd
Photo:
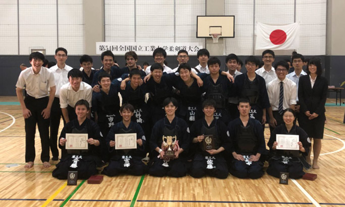
[(146, 139), (140, 125), (131, 121), (133, 114), (134, 107), (131, 104), (121, 106), (122, 121), (110, 129), (106, 138), (111, 159), (102, 172), (104, 175), (116, 176), (124, 173), (140, 176), (147, 172), (147, 166), (141, 161), (146, 156)]

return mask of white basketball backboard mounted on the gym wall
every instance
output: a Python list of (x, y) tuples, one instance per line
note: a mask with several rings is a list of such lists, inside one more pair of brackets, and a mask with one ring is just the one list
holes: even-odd
[(235, 37), (235, 16), (197, 16), (196, 37), (212, 37), (212, 34), (220, 34), (220, 37)]

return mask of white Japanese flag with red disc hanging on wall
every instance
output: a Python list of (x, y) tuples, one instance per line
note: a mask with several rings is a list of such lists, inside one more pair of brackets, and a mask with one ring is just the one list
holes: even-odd
[(300, 47), (300, 23), (269, 25), (258, 22), (255, 49), (295, 50)]

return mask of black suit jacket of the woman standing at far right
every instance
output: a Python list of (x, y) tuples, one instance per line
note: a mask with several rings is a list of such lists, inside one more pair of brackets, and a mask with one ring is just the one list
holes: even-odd
[(299, 81), (299, 101), (300, 112), (323, 114), (325, 112), (325, 103), (327, 98), (328, 83), (323, 76), (317, 76), (314, 87), (310, 83), (309, 75), (303, 75)]

